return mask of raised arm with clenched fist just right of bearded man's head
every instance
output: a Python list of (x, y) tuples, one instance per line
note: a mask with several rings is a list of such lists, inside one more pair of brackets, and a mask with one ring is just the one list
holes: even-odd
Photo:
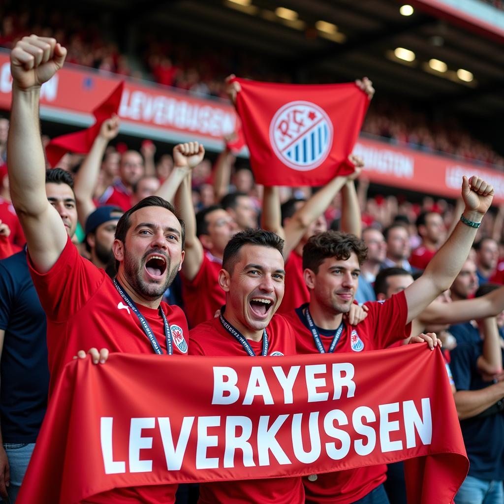
[(198, 142), (179, 144), (173, 149), (173, 172), (179, 171), (182, 182), (175, 196), (175, 206), (185, 223), (185, 256), (182, 263), (184, 277), (191, 281), (203, 263), (203, 245), (196, 236), (196, 215), (191, 192), (191, 170), (202, 162), (203, 145)]

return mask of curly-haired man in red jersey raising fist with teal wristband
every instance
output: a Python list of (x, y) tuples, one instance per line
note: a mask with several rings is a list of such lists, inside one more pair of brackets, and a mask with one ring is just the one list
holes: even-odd
[[(308, 240), (303, 248), (304, 279), (309, 303), (288, 314), (296, 334), (297, 353), (360, 352), (385, 348), (410, 335), (410, 322), (440, 293), (447, 290), (469, 254), (476, 229), (490, 207), (493, 188), (478, 177), (463, 178), (465, 211), (446, 243), (424, 274), (407, 289), (385, 302), (366, 303), (368, 316), (359, 327), (343, 322), (357, 289), (366, 249), (352, 235), (327, 231)], [(435, 336), (425, 339), (433, 348)], [(303, 479), (306, 502), (349, 504), (374, 492), (375, 502), (387, 502), (381, 484), (385, 466), (369, 466)], [(380, 495), (381, 494), (381, 495)], [(371, 496), (369, 496), (371, 498)]]

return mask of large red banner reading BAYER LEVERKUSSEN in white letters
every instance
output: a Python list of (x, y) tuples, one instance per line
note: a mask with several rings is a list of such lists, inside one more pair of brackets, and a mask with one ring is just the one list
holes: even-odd
[(410, 503), (450, 502), (468, 470), (443, 356), (425, 345), (302, 358), (114, 354), (64, 368), (17, 502), (405, 459)]

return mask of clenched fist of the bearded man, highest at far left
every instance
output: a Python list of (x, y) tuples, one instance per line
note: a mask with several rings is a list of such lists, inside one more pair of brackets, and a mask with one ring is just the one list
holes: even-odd
[(63, 66), (66, 56), (67, 49), (53, 38), (23, 37), (11, 51), (13, 85), (22, 90), (41, 86)]

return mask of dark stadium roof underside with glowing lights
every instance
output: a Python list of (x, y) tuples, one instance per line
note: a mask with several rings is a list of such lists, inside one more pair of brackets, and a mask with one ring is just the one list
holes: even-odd
[[(310, 82), (312, 74), (338, 81), (367, 75), (382, 92), (429, 108), (485, 121), (502, 117), (503, 37), (486, 31), (483, 22), (427, 13), (421, 4), (430, 0), (410, 3), (410, 16), (401, 15), (394, 0), (129, 0), (120, 5), (135, 12), (140, 25), (153, 23), (172, 35), (184, 32), (195, 41), (218, 40), (273, 58), (294, 69), (298, 82)], [(411, 51), (414, 59), (400, 59), (397, 54), (413, 55), (395, 53), (397, 48)]]

